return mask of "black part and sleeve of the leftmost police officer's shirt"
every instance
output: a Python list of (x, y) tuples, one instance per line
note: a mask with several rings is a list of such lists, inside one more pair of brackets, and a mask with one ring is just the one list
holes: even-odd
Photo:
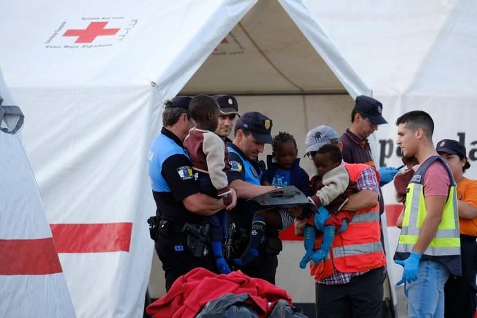
[[(179, 147), (184, 148), (183, 142), (169, 129), (162, 127), (160, 133), (173, 140)], [(162, 147), (162, 144), (156, 144), (155, 142), (151, 147), (151, 152), (162, 151)], [(200, 223), (202, 221), (198, 214), (187, 211), (182, 203), (187, 196), (200, 192), (191, 172), (191, 166), (189, 158), (183, 153), (176, 153), (162, 162), (160, 174), (166, 180), (170, 191), (153, 191), (160, 218), (180, 224), (185, 222)], [(151, 176), (151, 179), (154, 182), (153, 176)]]

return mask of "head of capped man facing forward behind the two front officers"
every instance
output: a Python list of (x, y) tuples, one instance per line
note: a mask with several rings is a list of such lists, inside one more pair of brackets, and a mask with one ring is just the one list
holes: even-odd
[(221, 116), (218, 118), (218, 125), (215, 133), (225, 142), (232, 142), (228, 137), (234, 128), (238, 113), (238, 103), (232, 95), (214, 95), (214, 99), (221, 106)]

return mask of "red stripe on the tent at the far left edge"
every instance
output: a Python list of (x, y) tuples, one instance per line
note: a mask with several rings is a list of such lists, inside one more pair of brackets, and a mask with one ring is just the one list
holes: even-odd
[(53, 238), (0, 240), (0, 275), (62, 272)]

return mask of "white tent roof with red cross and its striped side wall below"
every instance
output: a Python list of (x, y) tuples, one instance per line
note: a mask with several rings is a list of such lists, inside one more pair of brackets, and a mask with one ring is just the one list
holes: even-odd
[(1, 65), (78, 317), (141, 315), (162, 103), (254, 3), (3, 3)]

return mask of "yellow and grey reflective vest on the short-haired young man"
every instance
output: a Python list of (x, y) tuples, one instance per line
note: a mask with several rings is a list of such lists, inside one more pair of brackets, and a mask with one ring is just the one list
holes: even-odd
[(451, 169), (440, 156), (432, 156), (424, 161), (418, 171), (415, 171), (407, 187), (404, 221), (402, 222), (402, 230), (394, 259), (402, 260), (409, 257), (409, 253), (413, 250), (415, 243), (418, 242), (422, 223), (427, 215), (424, 200), (424, 176), (429, 166), (436, 160), (440, 160), (444, 164), (451, 183), (442, 212), (442, 221), (440, 221), (436, 236), (422, 254), (422, 259), (440, 261), (449, 268), (453, 275), (460, 276), (460, 234), (456, 182), (453, 180)]

